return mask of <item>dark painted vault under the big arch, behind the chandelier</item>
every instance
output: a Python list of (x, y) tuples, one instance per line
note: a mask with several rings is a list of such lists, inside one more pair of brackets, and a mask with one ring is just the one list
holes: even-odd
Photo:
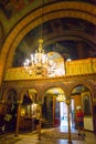
[[(75, 18), (55, 19), (43, 23), (43, 49), (45, 53), (58, 52), (64, 60), (96, 58), (96, 47), (85, 35), (94, 35), (95, 25)], [(78, 35), (77, 33), (82, 33)], [(18, 45), (12, 66), (22, 66), (26, 58), (38, 49), (41, 25), (30, 31)], [(50, 39), (52, 40), (50, 42)], [(47, 44), (46, 44), (47, 43)], [(78, 44), (83, 43), (83, 54), (79, 56)], [(81, 48), (82, 49), (82, 48)]]

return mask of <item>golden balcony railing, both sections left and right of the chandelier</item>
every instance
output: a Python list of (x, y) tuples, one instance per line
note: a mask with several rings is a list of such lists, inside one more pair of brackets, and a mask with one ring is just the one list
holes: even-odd
[[(96, 73), (96, 58), (89, 58), (85, 60), (65, 62), (65, 75), (62, 76), (94, 73)], [(49, 76), (35, 75), (34, 73), (32, 75), (29, 75), (23, 66), (9, 69), (4, 74), (4, 81), (33, 79), (49, 79)]]

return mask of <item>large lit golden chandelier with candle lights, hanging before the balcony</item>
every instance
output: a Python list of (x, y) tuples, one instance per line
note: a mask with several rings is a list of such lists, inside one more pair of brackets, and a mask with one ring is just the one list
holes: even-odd
[[(43, 1), (44, 3), (44, 1)], [(43, 16), (43, 8), (42, 16)], [(43, 18), (41, 17), (43, 20)], [(42, 74), (42, 75), (50, 75), (54, 73), (56, 63), (49, 56), (49, 54), (44, 53), (43, 49), (43, 39), (42, 39), (42, 23), (41, 22), (41, 39), (39, 40), (39, 48), (35, 50), (34, 54), (31, 54), (30, 59), (26, 59), (24, 62), (24, 68), (29, 72), (30, 75), (34, 74)]]

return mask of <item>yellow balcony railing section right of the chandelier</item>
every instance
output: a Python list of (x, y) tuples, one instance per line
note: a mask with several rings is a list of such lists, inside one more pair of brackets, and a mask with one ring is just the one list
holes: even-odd
[(66, 62), (66, 75), (96, 73), (96, 58)]

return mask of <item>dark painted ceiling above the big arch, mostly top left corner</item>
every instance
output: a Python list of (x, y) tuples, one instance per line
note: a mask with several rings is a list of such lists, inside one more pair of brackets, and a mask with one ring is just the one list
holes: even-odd
[[(39, 2), (39, 0), (36, 0)], [(42, 2), (53, 2), (58, 0), (40, 0)], [(60, 1), (83, 1), (88, 3), (96, 3), (96, 0), (60, 0)], [(0, 0), (0, 9), (7, 17), (7, 19), (11, 19), (15, 13), (24, 9), (26, 6), (31, 3), (35, 3), (35, 0)]]

